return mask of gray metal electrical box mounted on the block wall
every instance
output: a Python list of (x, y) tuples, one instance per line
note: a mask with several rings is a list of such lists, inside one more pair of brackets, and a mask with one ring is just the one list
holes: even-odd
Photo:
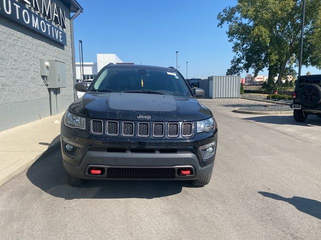
[(48, 88), (66, 87), (65, 62), (50, 60), (49, 75), (47, 78)]

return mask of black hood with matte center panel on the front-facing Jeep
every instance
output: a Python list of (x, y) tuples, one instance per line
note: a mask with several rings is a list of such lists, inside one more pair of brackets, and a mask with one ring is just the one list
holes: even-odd
[(70, 105), (69, 111), (90, 118), (118, 120), (196, 121), (212, 116), (207, 107), (192, 97), (130, 92), (87, 92)]

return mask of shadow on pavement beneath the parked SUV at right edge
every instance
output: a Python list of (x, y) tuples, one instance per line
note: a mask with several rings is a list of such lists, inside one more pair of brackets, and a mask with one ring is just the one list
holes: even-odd
[(291, 115), (263, 115), (246, 117), (244, 120), (250, 120), (255, 122), (264, 122), (279, 125), (298, 125), (298, 126), (321, 126), (321, 118), (315, 115), (309, 115), (305, 122), (296, 122)]

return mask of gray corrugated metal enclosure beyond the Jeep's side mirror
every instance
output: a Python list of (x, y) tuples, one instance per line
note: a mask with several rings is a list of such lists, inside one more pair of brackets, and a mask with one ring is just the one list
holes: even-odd
[(209, 76), (209, 97), (240, 97), (241, 76)]

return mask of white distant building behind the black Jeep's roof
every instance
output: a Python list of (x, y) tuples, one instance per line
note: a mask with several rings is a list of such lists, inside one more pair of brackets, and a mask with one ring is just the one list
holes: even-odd
[(97, 75), (97, 73), (109, 63), (120, 64), (124, 62), (114, 53), (98, 53), (97, 62), (84, 62), (83, 73), (80, 62), (76, 62), (76, 77), (77, 79), (81, 79), (82, 73), (82, 79), (93, 79)]

